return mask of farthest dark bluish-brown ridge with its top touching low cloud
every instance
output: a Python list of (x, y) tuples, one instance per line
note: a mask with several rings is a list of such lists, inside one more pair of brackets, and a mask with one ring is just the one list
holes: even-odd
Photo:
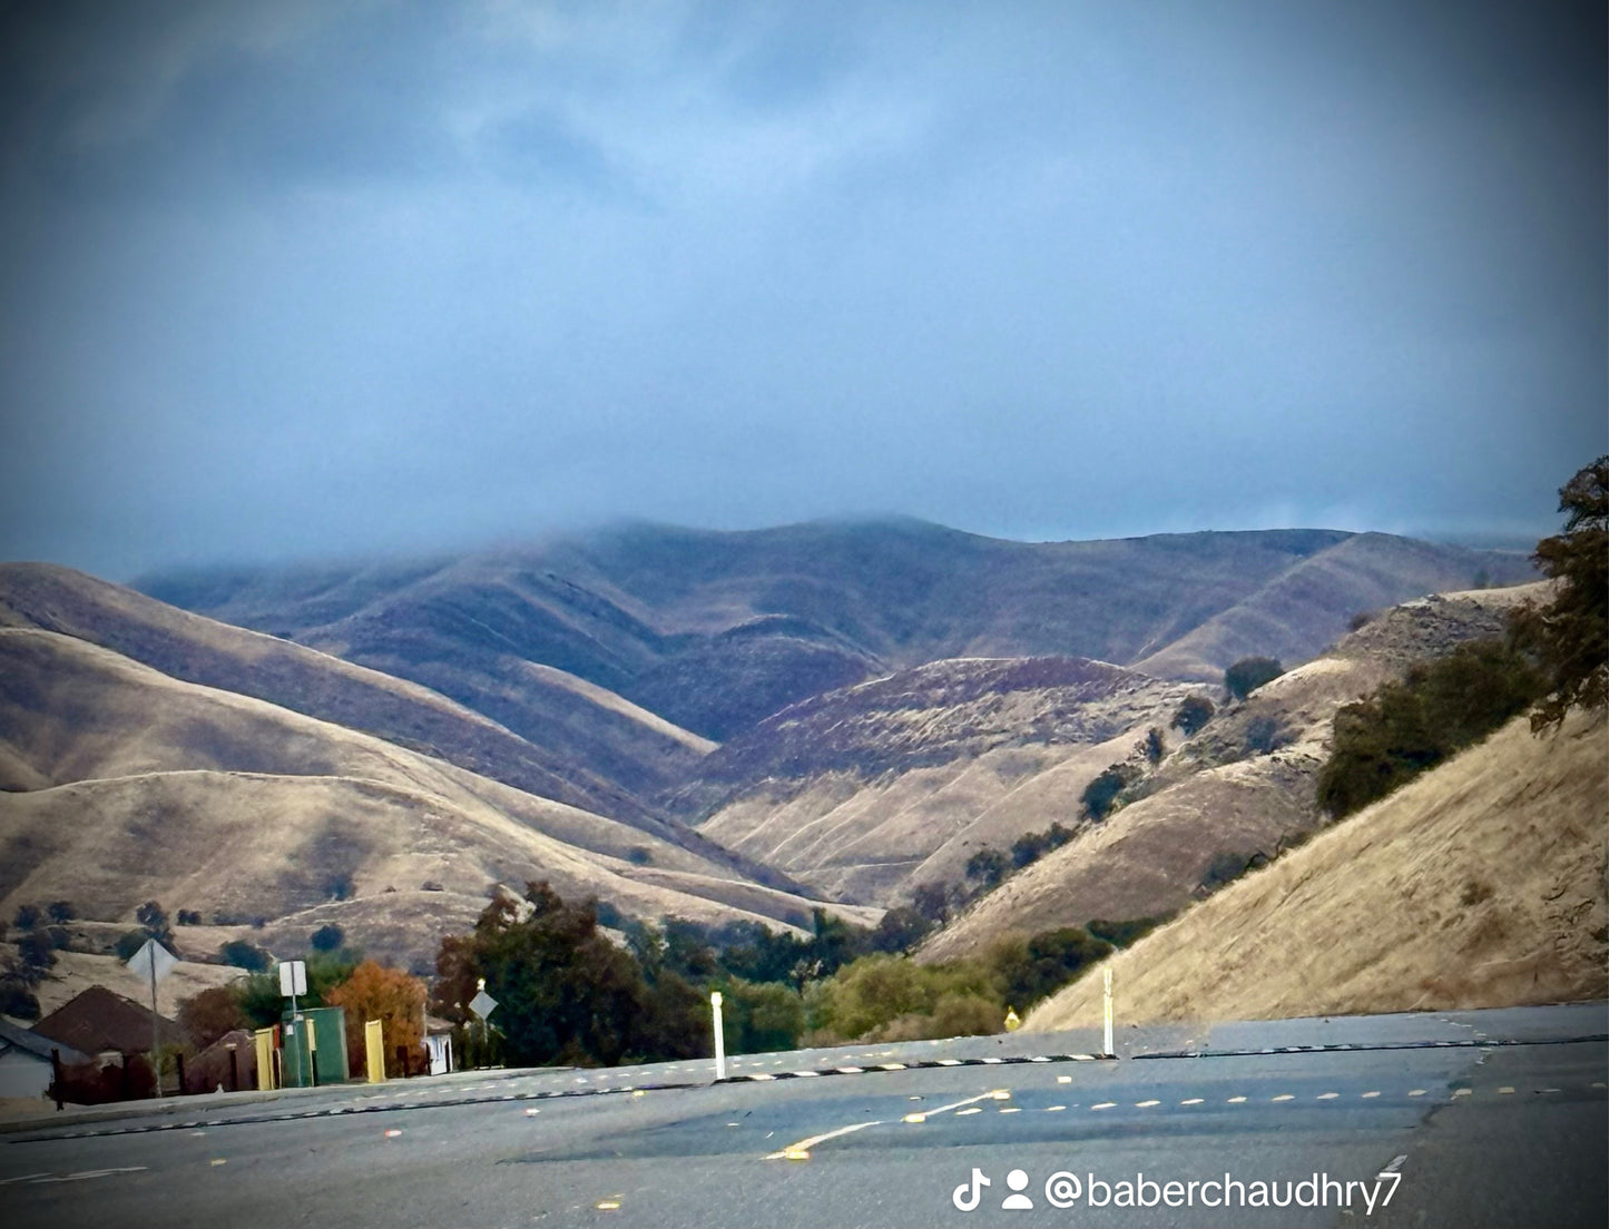
[(1298, 661), (1358, 610), (1479, 574), (1516, 582), (1530, 563), (1331, 529), (1030, 544), (888, 520), (631, 524), (447, 560), (195, 569), (137, 586), (423, 684), (541, 743), (525, 663), (724, 742), (811, 695), (951, 658), (1155, 658), (1142, 669), (1195, 679), (1271, 632)]

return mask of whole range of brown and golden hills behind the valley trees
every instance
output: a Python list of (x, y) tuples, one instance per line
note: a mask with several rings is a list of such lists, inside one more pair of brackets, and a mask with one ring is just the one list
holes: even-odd
[(338, 920), (415, 965), (523, 878), (623, 915), (875, 920), (1076, 814), (1236, 658), (1530, 576), (1385, 534), (907, 520), (134, 587), (3, 565), (0, 907), (71, 898), (114, 935), (154, 896), (206, 917), (196, 954)]

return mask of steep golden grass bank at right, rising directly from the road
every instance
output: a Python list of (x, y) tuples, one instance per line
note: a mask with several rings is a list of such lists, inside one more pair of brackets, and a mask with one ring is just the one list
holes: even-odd
[[(1126, 1023), (1500, 1007), (1609, 993), (1609, 724), (1487, 742), (1110, 959)], [(1101, 1020), (1101, 980), (1031, 1030)]]

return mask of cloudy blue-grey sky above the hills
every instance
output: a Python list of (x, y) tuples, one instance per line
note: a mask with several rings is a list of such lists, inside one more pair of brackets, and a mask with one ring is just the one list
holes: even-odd
[(1601, 3), (0, 0), (0, 558), (1558, 528)]

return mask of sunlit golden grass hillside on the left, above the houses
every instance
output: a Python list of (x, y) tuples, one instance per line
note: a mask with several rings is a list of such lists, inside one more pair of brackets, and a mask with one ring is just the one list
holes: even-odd
[(0, 631), (0, 910), (69, 899), (132, 922), (159, 899), (254, 938), (254, 919), (349, 896), (354, 941), (417, 959), (496, 882), (547, 878), (631, 915), (703, 922), (808, 923), (813, 904), (631, 825), (55, 632)]

